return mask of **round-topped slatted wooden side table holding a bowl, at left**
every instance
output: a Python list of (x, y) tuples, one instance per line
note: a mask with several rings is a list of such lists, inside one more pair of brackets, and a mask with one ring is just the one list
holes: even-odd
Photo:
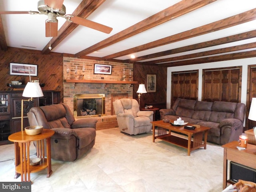
[[(22, 182), (31, 182), (30, 173), (38, 172), (47, 168), (47, 177), (52, 174), (51, 165), (51, 140), (50, 137), (54, 134), (53, 130), (43, 129), (41, 134), (27, 135), (25, 131), (16, 132), (8, 137), (8, 140), (14, 142), (15, 151), (15, 176), (18, 178), (21, 175)], [(46, 140), (46, 156), (44, 152), (44, 140)], [(36, 154), (41, 161), (38, 165), (30, 166), (30, 142), (36, 141)]]

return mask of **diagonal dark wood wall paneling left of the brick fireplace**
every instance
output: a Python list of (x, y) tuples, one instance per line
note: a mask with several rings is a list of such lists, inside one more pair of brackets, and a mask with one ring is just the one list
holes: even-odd
[(0, 90), (7, 91), (12, 88), (6, 86), (11, 81), (20, 80), (22, 84), (29, 82), (29, 76), (10, 75), (10, 63), (36, 64), (38, 76), (31, 76), (31, 80), (39, 79), (45, 86), (42, 90), (54, 90), (61, 92), (63, 101), (63, 56), (62, 54), (41, 54), (40, 51), (8, 48), (0, 50)]

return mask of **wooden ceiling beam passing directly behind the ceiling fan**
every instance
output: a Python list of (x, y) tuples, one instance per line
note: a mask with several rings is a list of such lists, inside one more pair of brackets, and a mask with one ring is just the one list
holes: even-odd
[[(106, 0), (82, 0), (72, 15), (87, 18), (105, 1)], [(78, 26), (78, 24), (66, 21), (58, 30), (58, 36), (51, 39), (51, 47), (54, 48), (60, 44), (60, 42), (62, 42), (62, 40), (64, 40)], [(50, 42), (48, 42), (48, 44), (44, 47), (42, 54), (48, 54), (50, 52), (49, 46)]]

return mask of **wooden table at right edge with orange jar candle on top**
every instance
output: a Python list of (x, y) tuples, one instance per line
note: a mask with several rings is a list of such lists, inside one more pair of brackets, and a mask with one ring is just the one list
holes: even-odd
[(222, 145), (224, 148), (223, 189), (226, 188), (227, 183), (232, 183), (230, 180), (227, 180), (228, 160), (256, 169), (256, 145), (247, 144), (245, 150), (238, 150), (237, 146), (239, 146), (238, 141)]

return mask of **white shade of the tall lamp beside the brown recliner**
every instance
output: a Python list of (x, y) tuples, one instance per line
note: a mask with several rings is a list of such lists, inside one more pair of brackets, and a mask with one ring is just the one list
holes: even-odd
[(24, 88), (23, 97), (42, 97), (44, 96), (38, 82), (28, 82)]

